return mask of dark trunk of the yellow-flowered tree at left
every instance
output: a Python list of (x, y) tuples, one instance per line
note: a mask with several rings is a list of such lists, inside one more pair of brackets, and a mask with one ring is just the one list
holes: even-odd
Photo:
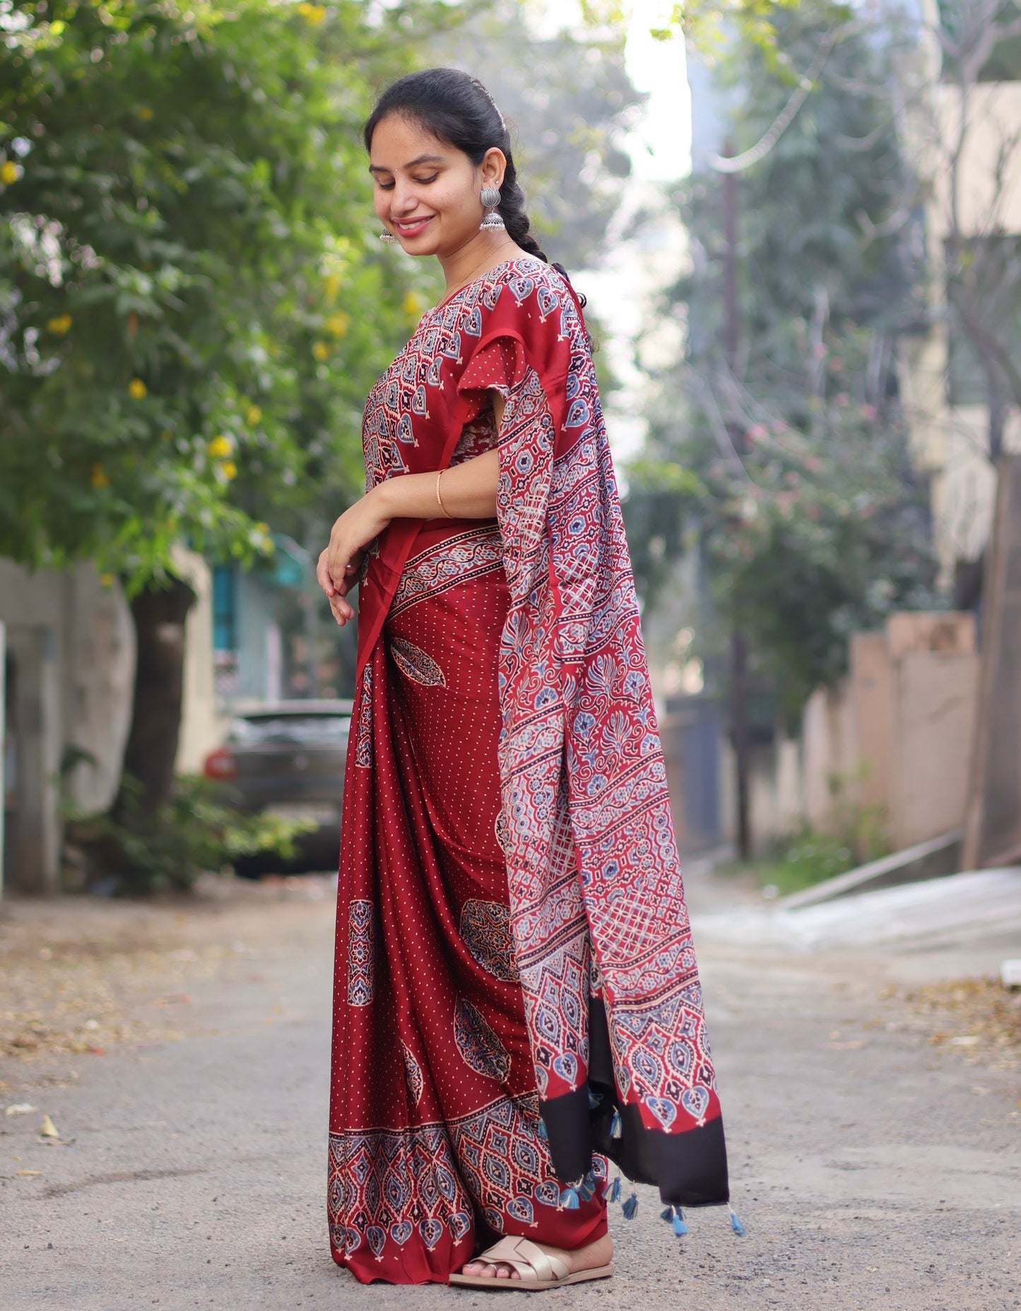
[(180, 578), (140, 591), (131, 602), (138, 641), (135, 699), (114, 819), (123, 819), (128, 809), (123, 779), (140, 784), (131, 806), (135, 813), (151, 817), (170, 798), (181, 732), (185, 619), (194, 602), (195, 593)]

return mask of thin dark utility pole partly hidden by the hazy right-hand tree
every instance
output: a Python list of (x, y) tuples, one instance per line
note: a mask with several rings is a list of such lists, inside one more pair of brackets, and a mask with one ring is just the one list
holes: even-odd
[[(733, 159), (734, 143), (723, 146), (723, 157)], [(738, 305), (738, 178), (737, 173), (723, 173), (723, 349), (727, 367), (737, 375), (741, 347), (741, 309)], [(729, 425), (730, 440), (738, 459), (744, 456), (744, 430)], [(741, 628), (735, 623), (730, 636), (730, 734), (734, 743), (734, 773), (737, 792), (738, 855), (751, 859), (751, 797), (750, 797), (750, 741), (748, 741), (748, 650)]]

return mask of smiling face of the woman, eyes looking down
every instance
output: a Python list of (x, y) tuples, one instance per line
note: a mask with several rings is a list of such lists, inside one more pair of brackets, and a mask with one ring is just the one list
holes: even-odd
[(414, 121), (388, 114), (370, 151), (376, 214), (409, 254), (453, 254), (478, 236), (478, 195), (501, 185), (505, 166), (495, 147), (476, 165)]

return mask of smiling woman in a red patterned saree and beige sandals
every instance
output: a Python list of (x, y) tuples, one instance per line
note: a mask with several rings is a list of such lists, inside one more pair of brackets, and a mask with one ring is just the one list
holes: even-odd
[(366, 147), (383, 237), (447, 291), (368, 397), (368, 492), (318, 562), (338, 624), (360, 579), (333, 1255), (603, 1278), (607, 1156), (679, 1232), (727, 1184), (590, 342), (480, 83), (402, 77)]

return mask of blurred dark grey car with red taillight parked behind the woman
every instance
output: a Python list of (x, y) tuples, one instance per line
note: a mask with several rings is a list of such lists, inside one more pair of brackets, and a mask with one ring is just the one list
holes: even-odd
[[(286, 869), (336, 869), (341, 797), (351, 701), (271, 701), (235, 709), (222, 746), (206, 756), (203, 773), (228, 787), (239, 809), (287, 819), (312, 819), (316, 830), (296, 839)], [(282, 868), (279, 856), (257, 853), (236, 865), (257, 877)]]

